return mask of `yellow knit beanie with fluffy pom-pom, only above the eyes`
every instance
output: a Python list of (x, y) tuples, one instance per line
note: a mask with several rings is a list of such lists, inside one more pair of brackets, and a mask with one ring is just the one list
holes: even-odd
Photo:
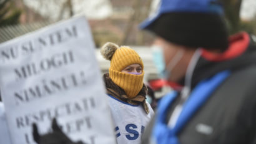
[(109, 69), (114, 69), (121, 72), (124, 68), (131, 64), (139, 64), (144, 69), (144, 65), (140, 56), (135, 52), (135, 50), (130, 49), (127, 46), (117, 46), (112, 42), (107, 42), (101, 48), (101, 55), (107, 59), (111, 60), (111, 67)]

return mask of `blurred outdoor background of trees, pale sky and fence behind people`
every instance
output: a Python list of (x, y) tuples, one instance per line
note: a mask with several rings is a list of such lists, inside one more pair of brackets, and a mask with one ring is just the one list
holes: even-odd
[[(220, 0), (221, 1), (221, 0)], [(256, 0), (222, 0), (230, 34), (247, 31), (256, 40)], [(154, 14), (159, 0), (0, 0), (0, 43), (72, 16), (85, 15), (97, 48), (116, 42), (144, 60), (145, 81), (157, 79), (150, 53), (152, 36), (138, 26)], [(96, 49), (102, 73), (109, 61)]]

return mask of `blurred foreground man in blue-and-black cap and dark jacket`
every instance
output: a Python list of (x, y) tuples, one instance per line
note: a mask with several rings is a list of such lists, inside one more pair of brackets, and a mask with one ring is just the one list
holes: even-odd
[(255, 43), (228, 37), (223, 15), (214, 0), (162, 0), (142, 23), (163, 77), (184, 85), (162, 98), (142, 143), (256, 143)]

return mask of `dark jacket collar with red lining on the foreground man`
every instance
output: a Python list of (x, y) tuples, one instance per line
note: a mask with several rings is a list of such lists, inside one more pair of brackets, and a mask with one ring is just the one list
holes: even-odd
[(223, 70), (239, 70), (256, 64), (256, 47), (246, 32), (229, 38), (229, 48), (221, 54), (213, 54), (202, 49), (200, 58), (192, 74), (192, 89), (201, 80), (212, 77)]

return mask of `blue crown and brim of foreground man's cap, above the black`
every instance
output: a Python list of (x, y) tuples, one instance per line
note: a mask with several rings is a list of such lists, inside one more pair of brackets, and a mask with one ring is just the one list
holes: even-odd
[(218, 0), (160, 0), (157, 12), (142, 22), (140, 29), (145, 29), (162, 14), (169, 12), (199, 12), (224, 15), (224, 10)]

